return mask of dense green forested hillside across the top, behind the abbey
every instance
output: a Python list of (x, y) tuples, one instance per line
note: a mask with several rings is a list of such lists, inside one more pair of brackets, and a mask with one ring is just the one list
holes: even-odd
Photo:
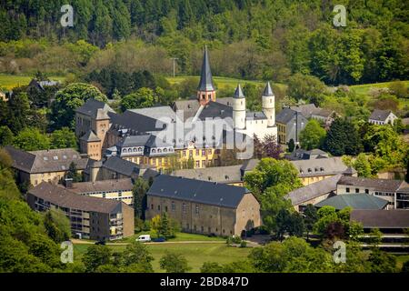
[[(109, 50), (112, 43), (136, 39), (143, 42), (134, 47), (145, 61), (137, 69), (155, 73), (171, 71), (169, 57), (177, 57), (180, 73), (197, 74), (198, 55), (207, 44), (212, 49), (215, 75), (283, 81), (289, 75), (303, 73), (316, 75), (329, 85), (374, 83), (409, 76), (407, 1), (70, 3), (74, 7), (74, 27), (64, 28), (60, 24), (63, 15), (60, 9), (65, 1), (0, 0), (0, 41), (7, 42), (0, 43), (0, 72), (25, 73), (35, 65), (43, 65), (55, 73), (67, 73), (73, 67), (88, 65), (94, 56), (91, 53), (101, 48)], [(339, 4), (347, 9), (346, 27), (333, 25), (333, 8)], [(18, 42), (22, 39), (23, 44)], [(27, 44), (26, 39), (35, 42)], [(88, 55), (84, 50), (76, 51), (77, 63), (73, 66), (72, 57), (65, 56), (73, 54), (75, 47), (67, 42), (78, 40), (99, 48)], [(58, 55), (65, 60), (58, 59)], [(38, 64), (38, 59), (43, 63)], [(15, 63), (10, 65), (12, 60)]]

